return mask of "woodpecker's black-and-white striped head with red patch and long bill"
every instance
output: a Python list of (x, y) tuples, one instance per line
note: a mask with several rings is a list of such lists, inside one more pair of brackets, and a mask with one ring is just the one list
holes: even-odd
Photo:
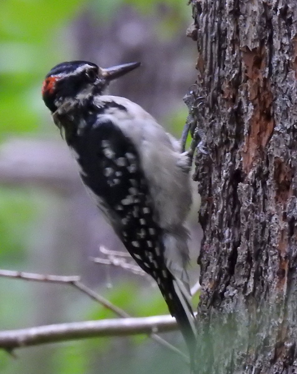
[(101, 95), (111, 80), (134, 70), (140, 62), (103, 69), (88, 61), (67, 61), (53, 67), (42, 85), (42, 98), (50, 111), (61, 105), (84, 104), (91, 96)]

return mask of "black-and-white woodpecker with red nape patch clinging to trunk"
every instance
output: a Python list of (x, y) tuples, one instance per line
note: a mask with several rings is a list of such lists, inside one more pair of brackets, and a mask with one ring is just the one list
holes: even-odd
[(111, 80), (139, 66), (62, 62), (46, 75), (42, 96), (96, 205), (157, 282), (187, 343), (193, 371), (196, 328), (184, 226), (192, 202), (189, 157), (139, 105), (103, 93)]

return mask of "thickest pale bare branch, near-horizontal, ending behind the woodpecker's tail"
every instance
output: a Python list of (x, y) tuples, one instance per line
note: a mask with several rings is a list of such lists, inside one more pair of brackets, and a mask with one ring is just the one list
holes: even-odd
[(151, 331), (177, 329), (175, 319), (169, 315), (144, 318), (104, 319), (101, 321), (73, 322), (38, 326), (26, 329), (0, 331), (0, 348), (11, 351), (44, 343), (103, 336), (151, 334)]

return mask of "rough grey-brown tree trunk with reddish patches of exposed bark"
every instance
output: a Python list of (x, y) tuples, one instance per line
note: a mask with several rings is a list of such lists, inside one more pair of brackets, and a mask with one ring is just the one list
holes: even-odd
[[(199, 373), (297, 370), (297, 1), (193, 0)], [(197, 101), (196, 101), (197, 102)], [(202, 116), (204, 119), (202, 119)]]

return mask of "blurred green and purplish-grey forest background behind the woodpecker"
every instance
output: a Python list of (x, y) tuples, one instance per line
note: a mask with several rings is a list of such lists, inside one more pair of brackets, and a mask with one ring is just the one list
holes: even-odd
[[(141, 61), (110, 92), (137, 102), (179, 137), (187, 116), (182, 98), (196, 77), (196, 47), (186, 37), (191, 8), (186, 0), (2, 0), (0, 19), (0, 268), (81, 275), (131, 316), (167, 314), (147, 278), (90, 261), (102, 257), (100, 245), (123, 247), (89, 200), (40, 90), (61, 61), (102, 67)], [(193, 283), (199, 275), (197, 220), (193, 208)], [(1, 330), (114, 317), (70, 286), (0, 278)], [(184, 349), (178, 332), (162, 336)], [(0, 373), (187, 372), (179, 356), (146, 336), (15, 354), (0, 351)]]

